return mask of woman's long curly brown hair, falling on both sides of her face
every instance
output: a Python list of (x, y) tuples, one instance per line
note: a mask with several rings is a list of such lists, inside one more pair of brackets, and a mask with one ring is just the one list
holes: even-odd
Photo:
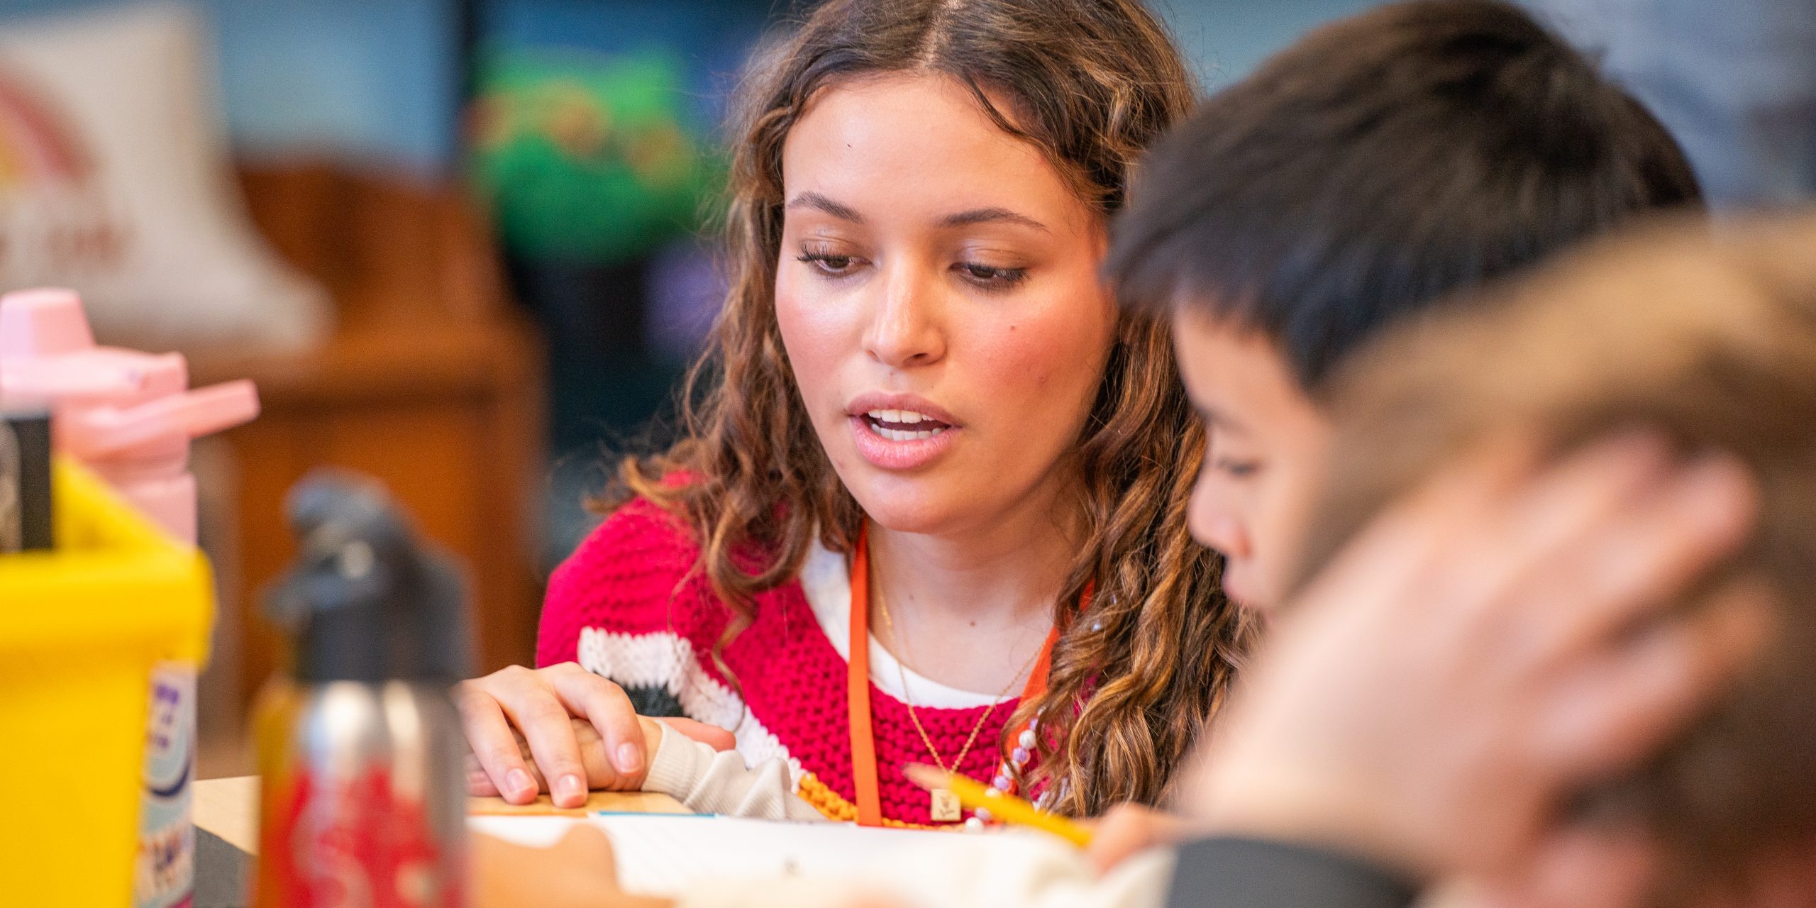
[[(1193, 104), (1186, 65), (1137, 0), (832, 0), (757, 56), (730, 133), (730, 291), (686, 378), (683, 439), (627, 459), (614, 496), (646, 498), (694, 527), (699, 570), (734, 614), (712, 656), (721, 670), (754, 596), (792, 579), (815, 534), (848, 554), (864, 519), (801, 405), (775, 320), (775, 263), (790, 127), (817, 91), (879, 73), (957, 80), (1106, 218), (1142, 149)], [(1024, 785), (1046, 788), (1064, 814), (1160, 801), (1244, 650), (1220, 559), (1186, 530), (1202, 452), (1166, 325), (1122, 314), (1068, 465), (1082, 479), (1073, 507), (1084, 545), (1055, 605), (1048, 690), (1008, 725), (1041, 717)], [(1090, 581), (1095, 596), (1077, 614)]]

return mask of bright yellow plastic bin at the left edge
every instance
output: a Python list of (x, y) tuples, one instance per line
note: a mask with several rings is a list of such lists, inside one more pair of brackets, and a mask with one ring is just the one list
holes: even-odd
[(133, 901), (151, 668), (202, 665), (207, 561), (71, 463), (56, 550), (0, 556), (0, 901)]

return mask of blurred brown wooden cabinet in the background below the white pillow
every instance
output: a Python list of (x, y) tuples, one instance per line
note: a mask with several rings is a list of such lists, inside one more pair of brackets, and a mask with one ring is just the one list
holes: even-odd
[[(227, 605), (245, 703), (278, 661), (252, 614), (294, 545), (283, 496), (316, 467), (390, 487), (458, 556), (474, 592), (478, 670), (534, 656), (541, 603), (534, 501), (543, 476), (543, 358), (505, 294), (489, 231), (458, 187), (334, 167), (243, 169), (260, 231), (334, 296), (318, 350), (192, 356), (194, 381), (251, 378), (260, 418), (223, 436), (236, 476)], [(207, 694), (203, 694), (207, 699)]]

